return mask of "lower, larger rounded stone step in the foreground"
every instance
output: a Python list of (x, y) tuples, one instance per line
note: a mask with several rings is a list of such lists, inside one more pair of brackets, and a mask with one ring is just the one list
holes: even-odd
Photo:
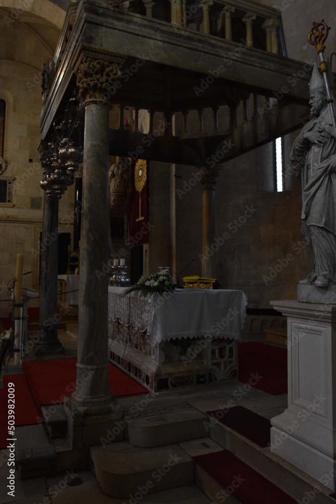
[(178, 445), (138, 448), (128, 442), (91, 449), (91, 467), (104, 493), (136, 501), (193, 483), (194, 464)]

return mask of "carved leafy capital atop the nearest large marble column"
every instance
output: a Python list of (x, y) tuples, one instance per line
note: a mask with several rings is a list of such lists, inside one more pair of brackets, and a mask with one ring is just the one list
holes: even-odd
[(76, 56), (73, 66), (77, 75), (79, 96), (84, 100), (109, 102), (114, 94), (113, 83), (121, 76), (121, 66), (126, 56), (98, 47), (83, 44)]

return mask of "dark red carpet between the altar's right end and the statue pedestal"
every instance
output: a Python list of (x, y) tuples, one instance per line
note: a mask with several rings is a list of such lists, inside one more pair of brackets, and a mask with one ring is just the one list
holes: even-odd
[(239, 343), (238, 380), (274, 396), (287, 394), (287, 349), (258, 342)]

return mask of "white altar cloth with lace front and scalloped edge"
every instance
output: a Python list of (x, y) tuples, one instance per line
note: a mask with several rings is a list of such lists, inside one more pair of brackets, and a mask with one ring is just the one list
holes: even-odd
[(108, 288), (109, 320), (147, 331), (153, 342), (210, 336), (240, 340), (247, 297), (241, 290), (176, 289), (149, 299)]

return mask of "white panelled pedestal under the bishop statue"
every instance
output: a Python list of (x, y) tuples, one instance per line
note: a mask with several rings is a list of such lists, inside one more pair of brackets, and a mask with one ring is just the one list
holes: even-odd
[(288, 317), (288, 407), (271, 450), (336, 488), (336, 305), (271, 301)]

